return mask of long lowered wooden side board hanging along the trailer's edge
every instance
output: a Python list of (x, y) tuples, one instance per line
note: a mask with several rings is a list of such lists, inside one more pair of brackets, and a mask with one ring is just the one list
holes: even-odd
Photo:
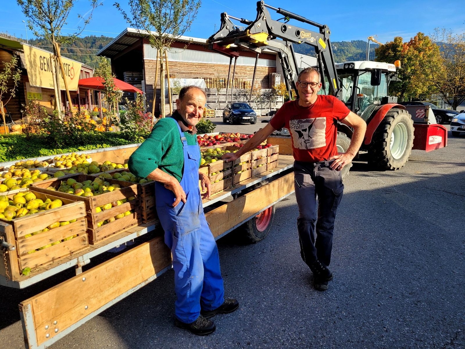
[[(213, 235), (231, 230), (292, 193), (293, 181), (293, 173), (284, 175), (208, 212), (206, 219)], [(46, 348), (152, 281), (170, 268), (171, 262), (171, 253), (163, 236), (157, 236), (21, 302), (20, 315), (27, 348)]]

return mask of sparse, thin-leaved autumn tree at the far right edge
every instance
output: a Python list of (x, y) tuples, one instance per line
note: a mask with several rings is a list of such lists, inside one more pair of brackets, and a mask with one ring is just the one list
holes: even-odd
[(428, 59), (426, 67), (430, 83), (438, 89), (452, 109), (465, 101), (465, 34), (453, 34), (445, 28), (436, 28), (432, 40), (440, 47), (439, 59)]

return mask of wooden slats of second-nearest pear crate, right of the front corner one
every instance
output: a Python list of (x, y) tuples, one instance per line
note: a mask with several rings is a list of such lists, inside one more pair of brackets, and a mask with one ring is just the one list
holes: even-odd
[[(95, 176), (81, 174), (72, 175), (67, 178), (74, 178), (78, 182), (86, 180), (95, 180)], [(89, 244), (93, 245), (106, 237), (109, 237), (115, 233), (120, 232), (121, 230), (124, 230), (134, 224), (139, 224), (141, 222), (139, 200), (127, 201), (122, 205), (115, 206), (102, 212), (95, 212), (95, 209), (97, 207), (103, 206), (107, 203), (127, 199), (131, 196), (135, 196), (136, 199), (139, 198), (137, 184), (133, 184), (126, 181), (117, 181), (110, 178), (106, 178), (105, 181), (111, 184), (119, 184), (121, 189), (113, 190), (110, 193), (104, 193), (90, 197), (77, 196), (73, 194), (62, 193), (59, 191), (51, 191), (49, 189), (46, 189), (48, 186), (52, 186), (53, 188), (58, 189), (61, 184), (61, 180), (58, 178), (55, 179), (55, 181), (46, 184), (42, 184), (42, 182), (33, 183), (33, 187), (34, 190), (40, 191), (42, 193), (53, 193), (53, 195), (73, 201), (84, 201), (84, 204), (86, 206), (87, 233), (89, 235)], [(117, 219), (115, 221), (98, 227), (98, 223), (100, 221), (105, 221), (108, 218), (114, 217), (116, 215), (131, 210), (133, 211), (131, 215), (124, 216), (121, 219)]]

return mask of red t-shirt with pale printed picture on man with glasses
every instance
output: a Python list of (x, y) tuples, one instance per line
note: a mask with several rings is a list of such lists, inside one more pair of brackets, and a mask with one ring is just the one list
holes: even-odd
[(337, 121), (343, 120), (349, 112), (336, 97), (319, 94), (309, 107), (299, 106), (299, 100), (284, 103), (270, 124), (274, 129), (289, 130), (295, 160), (324, 161), (338, 154)]

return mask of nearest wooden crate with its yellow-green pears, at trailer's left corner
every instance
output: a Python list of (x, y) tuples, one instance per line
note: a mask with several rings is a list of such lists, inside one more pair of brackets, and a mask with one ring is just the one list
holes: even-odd
[(58, 263), (85, 248), (86, 228), (84, 202), (33, 188), (0, 195), (0, 235), (15, 247), (7, 256), (12, 277)]

